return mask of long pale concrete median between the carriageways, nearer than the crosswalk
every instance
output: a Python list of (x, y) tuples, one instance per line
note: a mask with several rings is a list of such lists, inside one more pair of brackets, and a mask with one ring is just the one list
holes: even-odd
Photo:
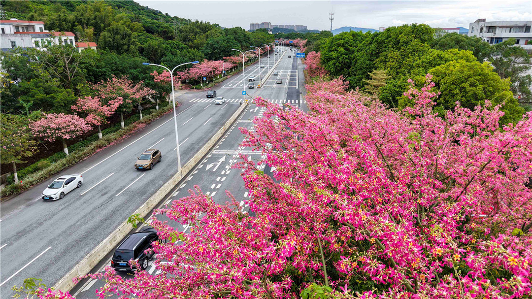
[[(214, 134), (211, 139), (198, 151), (192, 159), (190, 159), (184, 167), (181, 168), (179, 173), (176, 173), (169, 181), (167, 181), (157, 192), (155, 192), (148, 200), (142, 204), (135, 212), (132, 214), (140, 214), (140, 217), (145, 217), (164, 197), (175, 187), (179, 181), (186, 177), (188, 172), (194, 168), (202, 157), (210, 151), (210, 149), (218, 142), (226, 130), (228, 130), (235, 120), (238, 118), (240, 113), (246, 109), (247, 104), (243, 104), (238, 108), (231, 118), (226, 121), (226, 123), (221, 127), (216, 134)], [(105, 238), (101, 243), (99, 243), (94, 250), (89, 252), (84, 259), (82, 259), (72, 270), (66, 273), (55, 285), (54, 289), (61, 290), (62, 292), (69, 292), (76, 284), (72, 281), (74, 278), (79, 276), (87, 275), (87, 273), (92, 270), (99, 261), (101, 261), (105, 255), (107, 255), (118, 243), (131, 231), (131, 224), (128, 223), (126, 219), (121, 225), (115, 229), (111, 234)]]

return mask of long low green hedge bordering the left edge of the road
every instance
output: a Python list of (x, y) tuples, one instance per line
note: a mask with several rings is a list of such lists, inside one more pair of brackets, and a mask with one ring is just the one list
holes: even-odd
[(8, 185), (2, 189), (1, 196), (11, 196), (21, 193), (23, 190), (30, 188), (33, 185), (47, 179), (49, 176), (70, 167), (73, 164), (92, 155), (97, 149), (103, 148), (115, 140), (134, 131), (138, 124), (151, 122), (159, 118), (164, 113), (167, 113), (172, 108), (168, 102), (159, 103), (159, 111), (155, 107), (148, 107), (142, 111), (143, 119), (139, 121), (139, 114), (131, 115), (131, 117), (124, 120), (124, 128), (120, 127), (120, 123), (102, 130), (102, 139), (98, 139), (98, 134), (87, 137), (78, 143), (68, 147), (69, 156), (64, 152), (55, 153), (46, 159), (41, 159), (38, 162), (29, 165), (17, 172), (19, 180), (22, 180), (21, 185), (15, 185), (14, 176), (7, 177)]

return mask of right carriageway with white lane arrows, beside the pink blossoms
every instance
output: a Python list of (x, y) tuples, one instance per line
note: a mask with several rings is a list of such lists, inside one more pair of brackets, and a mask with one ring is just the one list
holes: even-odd
[[(288, 58), (287, 56), (288, 55), (284, 56), (276, 70), (279, 70), (279, 72), (282, 74), (287, 74), (286, 78), (289, 81), (288, 85), (285, 85), (285, 80), (283, 80), (282, 85), (279, 84), (265, 86), (267, 85), (265, 84), (263, 88), (251, 90), (247, 89), (246, 91), (249, 95), (254, 97), (261, 96), (263, 98), (269, 99), (269, 101), (273, 103), (290, 103), (299, 109), (307, 110), (305, 102), (299, 94), (300, 87), (304, 84), (304, 77), (302, 76), (303, 65), (301, 64), (301, 60), (294, 59), (293, 55), (291, 58)], [(247, 76), (248, 72), (246, 71), (246, 77)], [(272, 77), (274, 78), (272, 80), (275, 80), (276, 76)], [(240, 77), (240, 80), (242, 80), (242, 77)], [(227, 84), (231, 84), (231, 81), (227, 81)], [(237, 81), (235, 81), (234, 84), (237, 84)], [(241, 85), (240, 88), (242, 88)], [(190, 101), (192, 101), (190, 103), (198, 103), (201, 100), (192, 99)], [(264, 109), (254, 105), (253, 102), (252, 104), (248, 105), (246, 110), (242, 113), (242, 115), (240, 115), (239, 119), (225, 133), (225, 135), (223, 135), (214, 148), (203, 157), (200, 163), (195, 165), (195, 168), (189, 173), (189, 175), (181, 180), (157, 207), (169, 204), (172, 200), (178, 197), (187, 196), (188, 189), (192, 188), (194, 185), (198, 185), (202, 188), (204, 193), (211, 195), (215, 202), (219, 204), (225, 204), (229, 200), (225, 193), (225, 191), (228, 190), (240, 201), (240, 205), (244, 206), (244, 210), (249, 211), (246, 200), (250, 197), (250, 194), (244, 187), (244, 181), (240, 176), (242, 172), (238, 169), (231, 169), (231, 165), (238, 162), (237, 152), (248, 154), (255, 161), (258, 161), (262, 158), (261, 153), (252, 152), (251, 148), (240, 146), (240, 143), (243, 142), (244, 136), (242, 133), (240, 133), (238, 128), (246, 127), (248, 129), (253, 129), (252, 119), (255, 117), (260, 117), (263, 112)], [(264, 171), (265, 173), (271, 175), (272, 170), (269, 167), (265, 167)], [(160, 220), (169, 220), (168, 218), (164, 217), (164, 215), (157, 215), (156, 217)], [(151, 219), (151, 214), (147, 219), (149, 222), (149, 219)], [(178, 223), (176, 222), (169, 222), (170, 225), (172, 225), (172, 223), (174, 223), (174, 227), (180, 231), (186, 230), (185, 227), (179, 227)], [(139, 227), (138, 229), (142, 229), (142, 227)], [(107, 265), (110, 265), (111, 255), (112, 254), (108, 254), (104, 259), (102, 259), (102, 261), (91, 272), (96, 273), (104, 271), (104, 268)], [(149, 262), (147, 268), (147, 271), (151, 274), (156, 274), (158, 271), (155, 269), (153, 264), (154, 260), (155, 259), (152, 259), (152, 261)], [(123, 277), (130, 275), (128, 273), (119, 274)], [(103, 287), (103, 285), (103, 281), (100, 280), (84, 279), (72, 290), (71, 294), (76, 295), (76, 298), (78, 299), (93, 298), (96, 290)]]

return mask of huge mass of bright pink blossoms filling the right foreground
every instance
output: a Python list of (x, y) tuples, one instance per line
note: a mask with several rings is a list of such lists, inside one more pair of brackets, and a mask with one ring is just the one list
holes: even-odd
[[(99, 298), (524, 298), (532, 273), (532, 123), (498, 107), (433, 111), (434, 84), (388, 110), (358, 92), (314, 90), (309, 113), (262, 98), (241, 128), (245, 199), (199, 187), (156, 213), (159, 274), (111, 268)], [(489, 106), (489, 105), (487, 105)], [(273, 178), (260, 169), (275, 168)], [(275, 180), (274, 180), (275, 179)], [(144, 222), (133, 215), (130, 222)], [(138, 263), (130, 261), (131, 267)], [(45, 295), (63, 296), (39, 290)], [(44, 298), (44, 295), (41, 295)], [(70, 298), (68, 295), (64, 296)], [(48, 297), (46, 297), (48, 298)]]

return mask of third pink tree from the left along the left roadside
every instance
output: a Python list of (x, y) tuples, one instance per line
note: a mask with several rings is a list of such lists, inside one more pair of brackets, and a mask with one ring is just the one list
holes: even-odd
[(120, 125), (124, 127), (123, 113), (129, 113), (136, 106), (139, 110), (140, 119), (142, 119), (142, 106), (140, 105), (148, 96), (154, 95), (155, 91), (144, 86), (143, 81), (133, 82), (127, 76), (117, 78), (113, 75), (107, 81), (101, 81), (93, 86), (97, 96), (112, 101), (118, 97), (122, 98), (122, 103), (118, 106), (120, 112)]

